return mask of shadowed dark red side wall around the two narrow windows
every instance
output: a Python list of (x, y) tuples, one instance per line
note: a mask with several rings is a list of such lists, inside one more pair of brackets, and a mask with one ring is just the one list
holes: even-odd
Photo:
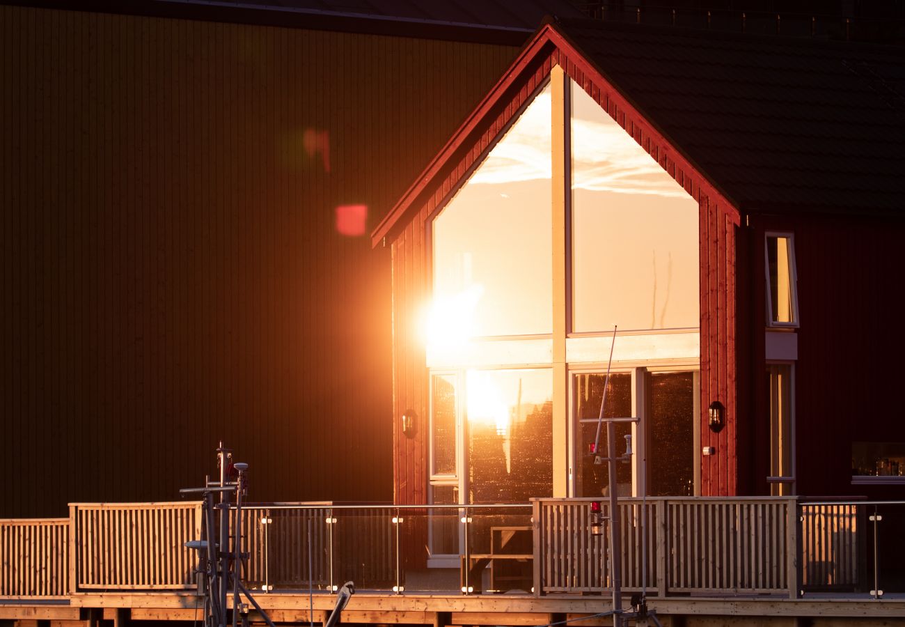
[[(800, 327), (795, 362), (798, 493), (902, 498), (901, 486), (853, 486), (852, 442), (905, 442), (900, 399), (905, 218), (865, 215), (751, 216), (740, 239), (751, 272), (739, 281), (750, 302), (750, 426), (758, 451), (743, 466), (754, 493), (768, 494), (769, 406), (765, 389), (764, 234), (795, 234)], [(742, 253), (740, 253), (741, 255)]]

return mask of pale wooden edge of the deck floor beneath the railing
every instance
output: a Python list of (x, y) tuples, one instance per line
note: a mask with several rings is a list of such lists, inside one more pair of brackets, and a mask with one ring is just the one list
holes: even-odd
[[(271, 593), (255, 597), (274, 622), (322, 624), (332, 610), (335, 597), (315, 594), (313, 614), (308, 593)], [(0, 603), (0, 620), (80, 621), (99, 620), (123, 624), (128, 621), (195, 621), (201, 600), (193, 593), (98, 593), (79, 594), (59, 604)], [(905, 598), (873, 601), (843, 597), (787, 599), (770, 596), (650, 599), (648, 603), (663, 618), (692, 616), (743, 617), (748, 624), (767, 623), (780, 617), (891, 619), (905, 621)], [(557, 597), (418, 595), (357, 593), (343, 612), (344, 623), (447, 625), (547, 625), (550, 622), (591, 616), (609, 610), (611, 602), (599, 595)], [(250, 620), (256, 621), (255, 613)], [(573, 624), (596, 627), (610, 625), (608, 618), (590, 618)]]

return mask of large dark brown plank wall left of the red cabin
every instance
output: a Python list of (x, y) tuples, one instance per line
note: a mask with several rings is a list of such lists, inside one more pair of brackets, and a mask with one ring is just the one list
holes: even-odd
[(390, 499), (367, 232), (516, 52), (0, 6), (0, 516), (176, 498), (218, 439), (253, 499)]

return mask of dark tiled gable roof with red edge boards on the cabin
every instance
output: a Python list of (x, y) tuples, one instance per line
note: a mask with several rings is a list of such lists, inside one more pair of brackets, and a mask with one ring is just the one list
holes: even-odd
[(664, 168), (691, 169), (738, 212), (905, 213), (905, 49), (551, 20), (378, 225), (375, 244), (551, 47), (588, 92), (606, 92), (598, 101), (649, 126), (616, 117), (639, 143), (653, 138), (643, 145)]

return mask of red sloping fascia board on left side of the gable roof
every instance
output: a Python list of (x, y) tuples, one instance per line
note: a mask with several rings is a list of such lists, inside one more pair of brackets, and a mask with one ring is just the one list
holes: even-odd
[(415, 206), (420, 206), (419, 198), (429, 191), (429, 187), (435, 178), (438, 178), (445, 169), (451, 167), (453, 157), (460, 150), (471, 150), (472, 140), (475, 136), (480, 138), (483, 128), (481, 122), (491, 119), (491, 112), (497, 110), (500, 106), (509, 103), (510, 89), (519, 84), (526, 76), (529, 76), (530, 68), (533, 63), (541, 58), (541, 52), (544, 47), (550, 43), (549, 34), (550, 26), (545, 24), (540, 28), (538, 35), (525, 47), (519, 54), (519, 57), (510, 65), (509, 70), (503, 74), (502, 78), (491, 88), (491, 91), (484, 96), (481, 103), (472, 111), (472, 113), (462, 122), (462, 125), (456, 130), (450, 140), (446, 142), (440, 152), (431, 159), (421, 176), (405, 191), (390, 212), (386, 214), (383, 220), (377, 225), (371, 234), (372, 246), (377, 246), (383, 241), (384, 237), (390, 234), (395, 224), (405, 217), (405, 214)]

